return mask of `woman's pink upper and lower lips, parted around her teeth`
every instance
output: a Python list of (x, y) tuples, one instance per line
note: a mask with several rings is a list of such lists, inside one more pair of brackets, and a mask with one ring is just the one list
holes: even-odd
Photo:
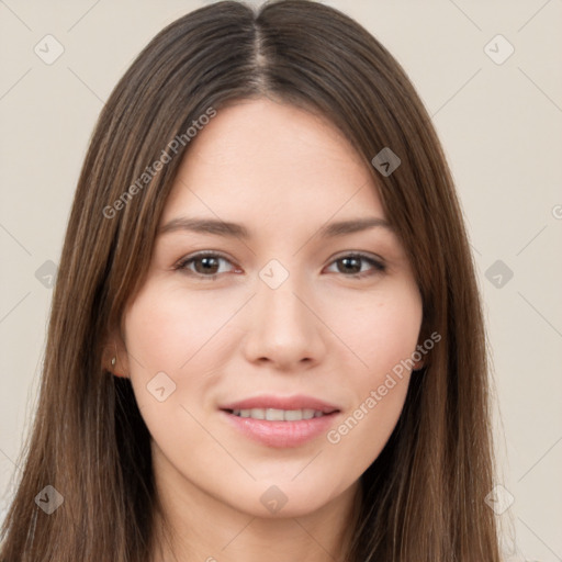
[[(294, 422), (270, 422), (239, 417), (233, 414), (235, 409), (276, 408), (276, 409), (314, 409), (324, 415), (312, 419)], [(221, 406), (225, 420), (246, 437), (267, 447), (292, 448), (299, 447), (326, 434), (334, 423), (339, 408), (327, 402), (311, 396), (256, 396)]]

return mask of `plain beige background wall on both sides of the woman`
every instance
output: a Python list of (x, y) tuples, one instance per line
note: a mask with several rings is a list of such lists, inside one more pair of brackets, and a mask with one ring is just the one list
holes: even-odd
[[(0, 0), (0, 517), (37, 395), (52, 295), (44, 263), (58, 263), (94, 121), (139, 49), (203, 3)], [(498, 516), (506, 560), (561, 561), (562, 1), (327, 3), (395, 55), (434, 117), (485, 301), (506, 490), (495, 505), (513, 496)], [(64, 47), (52, 65), (34, 53), (47, 34)], [(504, 40), (485, 49), (497, 34), (515, 48), (503, 64), (488, 54), (503, 58)], [(497, 260), (503, 272), (488, 270)]]

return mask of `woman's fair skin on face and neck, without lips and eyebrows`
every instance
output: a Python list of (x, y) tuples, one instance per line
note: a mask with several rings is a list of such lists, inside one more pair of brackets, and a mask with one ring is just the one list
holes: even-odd
[[(327, 222), (387, 218), (369, 162), (317, 115), (270, 99), (237, 102), (192, 140), (160, 225), (188, 215), (244, 224), (251, 237), (158, 236), (123, 339), (112, 342), (112, 370), (131, 378), (153, 437), (171, 536), (154, 560), (342, 560), (359, 479), (396, 425), (411, 371), (338, 443), (322, 434), (296, 448), (267, 447), (218, 407), (306, 394), (340, 408), (337, 428), (416, 350), (422, 300), (396, 235), (317, 235)], [(201, 250), (220, 252), (209, 273), (201, 260), (175, 269)], [(341, 262), (357, 251), (385, 270)], [(289, 273), (277, 289), (259, 277), (271, 259)], [(355, 277), (359, 269), (364, 277)], [(164, 402), (147, 391), (161, 371), (176, 384)], [(277, 513), (260, 502), (273, 485), (286, 497)]]

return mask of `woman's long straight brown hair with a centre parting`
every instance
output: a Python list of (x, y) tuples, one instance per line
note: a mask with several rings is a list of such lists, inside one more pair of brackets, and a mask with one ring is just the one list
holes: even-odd
[[(494, 462), (481, 302), (439, 140), (406, 74), (370, 33), (321, 3), (280, 0), (256, 12), (224, 1), (175, 21), (101, 112), (63, 247), (38, 408), (2, 528), (4, 562), (149, 560), (159, 509), (150, 436), (130, 380), (111, 375), (102, 353), (143, 285), (189, 149), (186, 131), (210, 108), (220, 113), (262, 95), (327, 116), (364, 158), (416, 274), (422, 338), (441, 336), (361, 476), (346, 560), (499, 561), (484, 502)], [(181, 135), (146, 181), (147, 167)], [(370, 164), (385, 147), (401, 159), (390, 175)], [(123, 196), (127, 190), (133, 196)], [(64, 497), (50, 515), (35, 501), (48, 485)]]

